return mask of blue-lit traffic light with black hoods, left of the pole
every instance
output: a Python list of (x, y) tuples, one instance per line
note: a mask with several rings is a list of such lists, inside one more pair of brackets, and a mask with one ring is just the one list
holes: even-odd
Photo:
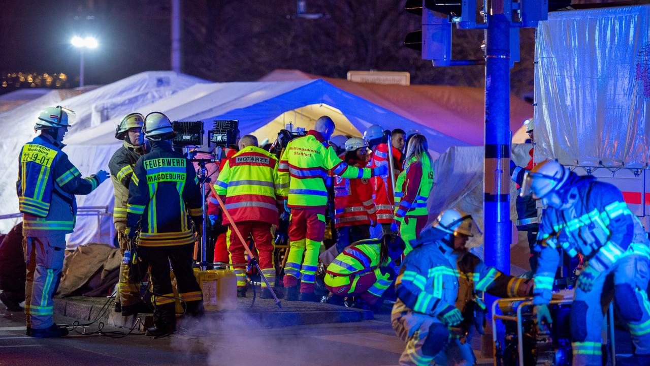
[(424, 8), (423, 0), (408, 0), (404, 9), (422, 18), (422, 29), (408, 33), (404, 44), (421, 51), (423, 60), (431, 60), (434, 66), (451, 64), (451, 23)]

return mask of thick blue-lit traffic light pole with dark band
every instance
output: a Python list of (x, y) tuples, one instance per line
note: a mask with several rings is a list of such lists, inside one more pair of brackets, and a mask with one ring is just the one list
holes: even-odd
[[(505, 5), (505, 7), (504, 7)], [(510, 1), (493, 0), (487, 14), (484, 168), (484, 255), (510, 273)], [(504, 11), (505, 10), (505, 11)]]

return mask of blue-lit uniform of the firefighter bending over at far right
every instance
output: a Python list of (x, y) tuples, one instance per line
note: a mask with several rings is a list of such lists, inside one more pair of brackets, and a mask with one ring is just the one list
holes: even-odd
[(615, 309), (627, 322), (636, 354), (650, 354), (650, 251), (640, 221), (611, 184), (571, 172), (562, 187), (558, 195), (571, 204), (546, 208), (539, 226), (534, 303), (551, 300), (560, 247), (571, 257), (584, 255), (571, 307), (573, 365), (602, 363), (603, 309), (612, 301), (612, 284)]

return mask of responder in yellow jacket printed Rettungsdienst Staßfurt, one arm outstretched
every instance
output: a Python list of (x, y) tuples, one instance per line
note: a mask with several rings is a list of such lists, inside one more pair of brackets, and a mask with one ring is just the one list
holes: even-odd
[[(285, 199), (285, 210), (291, 212), (289, 225), (289, 258), (284, 268), (286, 300), (316, 301), (314, 279), (318, 266), (320, 242), (325, 233), (325, 209), (328, 193), (324, 180), (328, 171), (343, 178), (370, 178), (385, 175), (386, 165), (374, 169), (347, 165), (326, 141), (334, 132), (330, 117), (320, 117), (307, 135), (292, 140), (280, 159), (278, 175)], [(291, 176), (291, 178), (289, 178)], [(287, 190), (288, 188), (288, 190)], [(303, 260), (304, 254), (304, 260)], [(302, 266), (301, 266), (302, 264)]]

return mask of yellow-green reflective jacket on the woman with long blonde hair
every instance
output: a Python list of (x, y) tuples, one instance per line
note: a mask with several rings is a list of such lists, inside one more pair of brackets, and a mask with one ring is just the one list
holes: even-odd
[(406, 169), (395, 182), (395, 220), (404, 221), (404, 216), (427, 216), (426, 200), (434, 186), (434, 170), (429, 156), (424, 154), (420, 162), (415, 157), (409, 160)]

